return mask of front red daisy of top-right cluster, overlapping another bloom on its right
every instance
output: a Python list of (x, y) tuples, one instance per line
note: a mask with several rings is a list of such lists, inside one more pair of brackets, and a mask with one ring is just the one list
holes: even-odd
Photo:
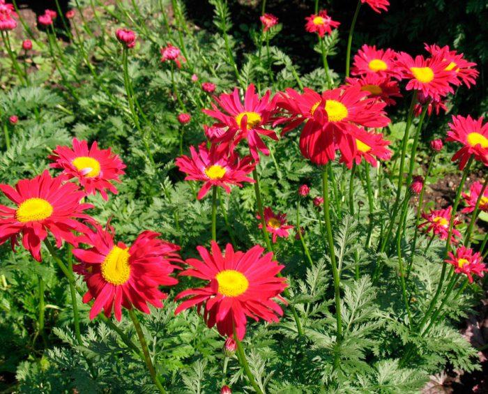
[(412, 58), (405, 52), (397, 56), (397, 66), (404, 78), (410, 79), (406, 90), (418, 90), (433, 100), (441, 100), (442, 96), (453, 93), (450, 84), (456, 84), (457, 77), (453, 70), (446, 70), (449, 66), (447, 60), (437, 57), (424, 59), (424, 56)]

